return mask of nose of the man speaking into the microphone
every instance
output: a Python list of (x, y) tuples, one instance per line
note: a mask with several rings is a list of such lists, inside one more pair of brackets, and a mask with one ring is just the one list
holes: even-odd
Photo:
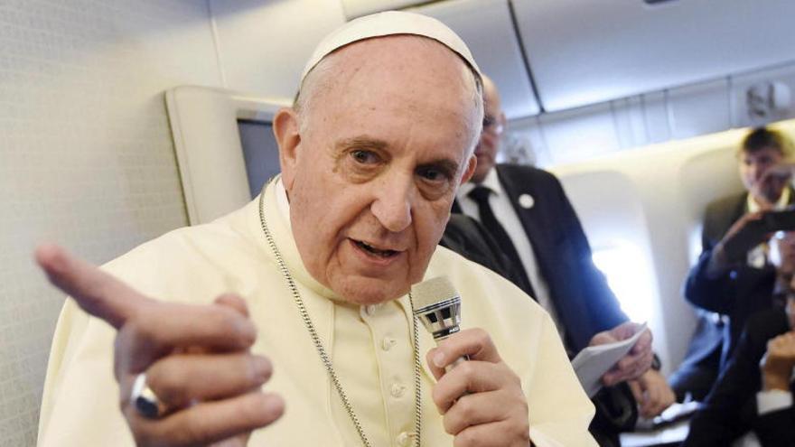
[(411, 225), (411, 206), (416, 194), (414, 179), (408, 175), (385, 177), (377, 186), (370, 210), (384, 228), (399, 232)]

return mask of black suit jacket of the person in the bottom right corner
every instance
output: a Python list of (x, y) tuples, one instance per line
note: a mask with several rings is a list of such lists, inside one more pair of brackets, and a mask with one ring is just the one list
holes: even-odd
[(737, 348), (704, 405), (693, 416), (685, 447), (724, 447), (753, 430), (764, 447), (795, 445), (795, 410), (791, 407), (757, 416), (756, 393), (761, 389), (759, 362), (767, 342), (790, 330), (780, 309), (748, 318)]

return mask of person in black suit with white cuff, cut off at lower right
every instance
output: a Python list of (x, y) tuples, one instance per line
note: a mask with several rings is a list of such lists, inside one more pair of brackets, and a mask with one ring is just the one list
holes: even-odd
[(693, 417), (686, 447), (723, 447), (749, 430), (764, 447), (795, 445), (790, 383), (795, 368), (795, 233), (775, 242), (781, 253), (776, 294), (787, 296), (786, 308), (776, 306), (747, 319), (725, 371)]

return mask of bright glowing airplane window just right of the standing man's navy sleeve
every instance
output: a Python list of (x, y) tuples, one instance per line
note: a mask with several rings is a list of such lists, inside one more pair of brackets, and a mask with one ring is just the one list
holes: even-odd
[(630, 320), (649, 321), (654, 284), (641, 248), (621, 241), (610, 247), (594, 248), (593, 259)]

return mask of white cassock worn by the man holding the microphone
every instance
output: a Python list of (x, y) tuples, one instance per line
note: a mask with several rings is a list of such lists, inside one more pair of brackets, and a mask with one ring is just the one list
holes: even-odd
[[(269, 228), (364, 432), (373, 445), (410, 445), (414, 360), (407, 296), (360, 307), (342, 302), (315, 281), (295, 247), (279, 186), (271, 183), (264, 192)], [(258, 331), (252, 352), (274, 365), (265, 387), (286, 401), (282, 418), (253, 433), (248, 445), (360, 445), (267, 246), (258, 199), (210, 224), (177, 229), (136, 247), (103, 268), (160, 300), (211, 303), (228, 292), (246, 300)], [(547, 313), (499, 275), (443, 247), (436, 248), (426, 278), (439, 275), (461, 293), (462, 329), (488, 331), (501, 358), (521, 377), (533, 442), (540, 447), (595, 446), (588, 433), (594, 407)], [(40, 446), (134, 445), (118, 410), (114, 337), (104, 321), (66, 302), (52, 341)], [(453, 445), (431, 398), (435, 379), (425, 354), (435, 343), (422, 327), (419, 344), (423, 445)]]

